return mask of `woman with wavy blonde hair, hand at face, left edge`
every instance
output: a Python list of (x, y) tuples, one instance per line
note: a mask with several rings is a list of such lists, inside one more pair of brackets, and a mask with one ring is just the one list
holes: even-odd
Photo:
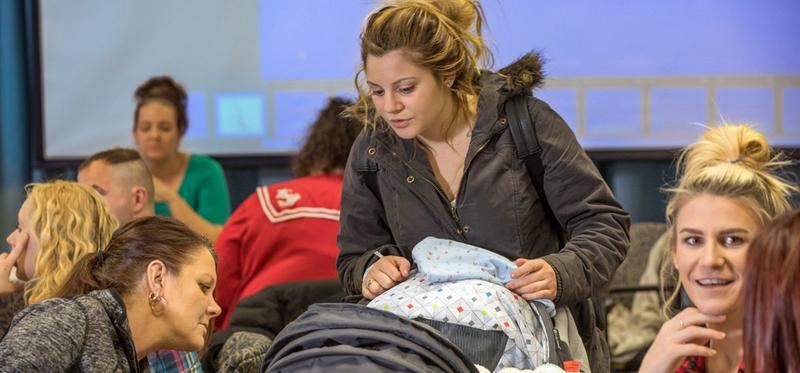
[[(11, 252), (0, 254), (0, 296), (24, 291), (25, 303), (34, 304), (52, 298), (75, 263), (103, 248), (118, 224), (90, 187), (57, 180), (26, 190), (17, 228), (6, 238)], [(12, 268), (24, 286), (10, 281)]]

